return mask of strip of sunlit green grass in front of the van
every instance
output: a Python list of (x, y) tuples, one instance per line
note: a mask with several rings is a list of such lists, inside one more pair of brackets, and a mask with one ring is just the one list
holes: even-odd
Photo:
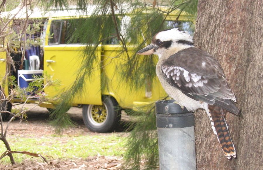
[[(43, 137), (15, 137), (8, 138), (10, 147), (14, 151), (28, 151), (38, 153), (48, 160), (57, 158), (85, 158), (97, 154), (104, 156), (122, 156), (124, 153), (126, 137), (120, 134), (106, 135), (82, 135), (77, 137), (69, 136), (43, 136)], [(6, 148), (4, 143), (0, 144), (0, 154)], [(31, 156), (24, 154), (13, 154), (16, 163), (21, 163)], [(35, 161), (42, 161), (41, 158), (33, 157)], [(9, 157), (0, 160), (0, 164), (10, 164)]]

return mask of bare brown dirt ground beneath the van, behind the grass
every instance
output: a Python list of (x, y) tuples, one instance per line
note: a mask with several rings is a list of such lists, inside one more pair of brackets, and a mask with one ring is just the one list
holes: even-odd
[[(25, 107), (31, 108), (34, 104), (26, 104)], [(20, 107), (18, 105), (18, 107)], [(89, 129), (86, 128), (84, 125), (84, 122), (82, 120), (82, 108), (72, 107), (67, 112), (70, 115), (70, 118), (77, 124), (75, 127), (66, 129), (63, 134), (68, 135), (74, 135), (74, 134), (89, 134), (94, 135), (98, 134), (95, 132), (89, 131)], [(14, 120), (12, 123), (12, 126), (10, 126), (8, 129), (9, 135), (13, 134), (19, 134), (19, 132), (22, 132), (23, 135), (29, 135), (32, 134), (34, 136), (38, 135), (45, 135), (45, 134), (54, 134), (55, 128), (48, 123), (49, 118), (49, 111), (46, 108), (42, 107), (35, 107), (31, 111), (27, 112), (27, 119), (23, 120), (23, 122), (20, 122), (19, 119)], [(116, 132), (123, 132), (124, 131), (124, 124), (125, 122), (129, 121), (130, 117), (122, 112), (122, 119), (121, 119), (121, 125), (117, 127)], [(4, 125), (6, 122), (4, 122)], [(19, 124), (19, 125), (18, 125)], [(39, 134), (39, 129), (41, 129), (41, 134)], [(107, 133), (103, 135), (108, 135)]]

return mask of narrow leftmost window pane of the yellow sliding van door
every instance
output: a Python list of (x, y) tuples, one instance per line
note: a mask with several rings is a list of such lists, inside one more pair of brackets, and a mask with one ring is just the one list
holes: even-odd
[(62, 27), (62, 20), (55, 20), (51, 22), (49, 45), (59, 44), (61, 27)]

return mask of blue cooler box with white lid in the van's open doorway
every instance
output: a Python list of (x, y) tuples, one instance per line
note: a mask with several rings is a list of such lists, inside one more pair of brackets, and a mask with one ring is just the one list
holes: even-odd
[(43, 70), (18, 70), (18, 86), (26, 88), (34, 80), (33, 75), (42, 76), (42, 74)]

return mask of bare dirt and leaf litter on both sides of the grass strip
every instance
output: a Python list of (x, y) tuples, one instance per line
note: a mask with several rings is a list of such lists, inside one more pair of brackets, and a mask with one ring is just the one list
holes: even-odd
[[(30, 108), (32, 104), (26, 104), (26, 107)], [(79, 136), (82, 134), (98, 135), (89, 131), (82, 120), (82, 108), (72, 107), (68, 111), (70, 117), (77, 126), (66, 129), (63, 134), (69, 136)], [(47, 119), (49, 118), (49, 111), (46, 108), (36, 107), (27, 113), (27, 120), (20, 123), (20, 120), (14, 120), (11, 122), (11, 126), (8, 130), (8, 135), (23, 135), (23, 136), (42, 136), (48, 134), (54, 134), (55, 128), (49, 125)], [(129, 116), (122, 113), (122, 122), (129, 121)], [(4, 126), (6, 122), (4, 122)], [(41, 129), (41, 133), (39, 133)], [(120, 125), (117, 128), (116, 133), (124, 134), (124, 127)], [(99, 135), (110, 135), (110, 133), (99, 134)], [(125, 135), (125, 134), (124, 134)], [(107, 157), (102, 155), (90, 156), (86, 159), (75, 159), (75, 160), (48, 160), (49, 164), (43, 162), (34, 162), (32, 160), (25, 160), (21, 164), (15, 164), (13, 166), (0, 165), (0, 169), (123, 169), (122, 157)]]

